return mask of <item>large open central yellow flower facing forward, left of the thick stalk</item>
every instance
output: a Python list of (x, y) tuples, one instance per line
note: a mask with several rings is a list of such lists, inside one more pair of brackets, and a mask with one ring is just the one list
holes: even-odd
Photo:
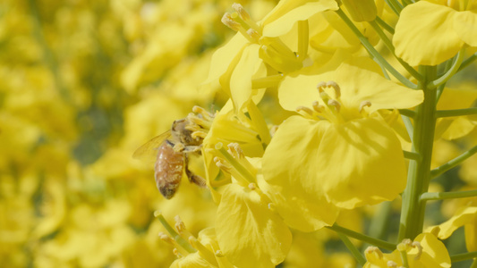
[[(300, 221), (294, 228), (332, 224), (333, 205), (352, 209), (377, 204), (404, 190), (400, 142), (375, 112), (419, 105), (422, 91), (386, 80), (376, 68), (363, 58), (347, 61), (336, 71), (282, 82), (280, 104), (301, 115), (278, 128), (263, 156), (263, 173), (289, 208), (277, 205), (285, 221)], [(306, 226), (305, 218), (320, 223)]]

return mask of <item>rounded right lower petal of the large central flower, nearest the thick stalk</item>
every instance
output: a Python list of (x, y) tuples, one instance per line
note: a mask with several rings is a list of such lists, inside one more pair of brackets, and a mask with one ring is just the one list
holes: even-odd
[(316, 176), (328, 199), (352, 209), (393, 200), (405, 189), (405, 159), (396, 134), (367, 118), (329, 126), (321, 139)]

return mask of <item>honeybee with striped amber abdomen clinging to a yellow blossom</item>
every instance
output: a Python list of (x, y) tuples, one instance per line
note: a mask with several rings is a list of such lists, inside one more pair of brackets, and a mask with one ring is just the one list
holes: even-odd
[(150, 139), (132, 155), (136, 159), (156, 155), (154, 178), (159, 192), (166, 199), (174, 197), (184, 169), (189, 181), (201, 188), (207, 187), (203, 178), (189, 170), (188, 154), (200, 154), (203, 138), (192, 138), (192, 130), (186, 129), (188, 123), (187, 118), (174, 121), (171, 130)]

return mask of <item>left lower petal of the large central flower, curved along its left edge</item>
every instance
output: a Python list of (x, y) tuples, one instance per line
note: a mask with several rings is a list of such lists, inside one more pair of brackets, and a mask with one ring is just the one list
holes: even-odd
[(317, 176), (319, 144), (328, 125), (292, 116), (278, 128), (263, 155), (268, 185), (260, 188), (294, 229), (318, 230), (336, 221), (337, 209), (328, 203)]

